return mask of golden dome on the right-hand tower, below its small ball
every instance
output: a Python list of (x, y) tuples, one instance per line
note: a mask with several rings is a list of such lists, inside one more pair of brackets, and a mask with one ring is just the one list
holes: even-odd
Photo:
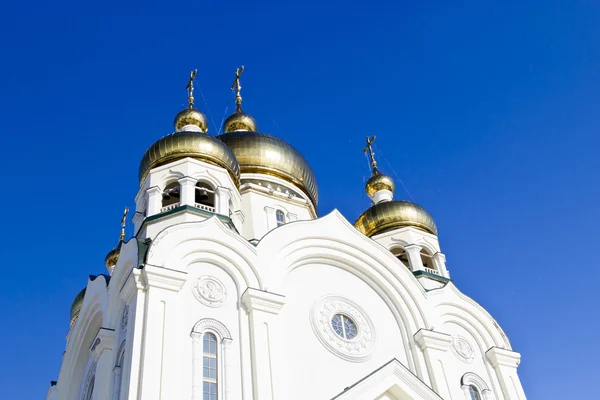
[(404, 200), (375, 204), (354, 223), (356, 229), (369, 237), (405, 226), (437, 235), (431, 215), (420, 205)]

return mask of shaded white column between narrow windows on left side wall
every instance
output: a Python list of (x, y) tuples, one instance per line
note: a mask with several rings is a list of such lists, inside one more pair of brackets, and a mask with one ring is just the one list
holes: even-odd
[(94, 399), (109, 399), (112, 394), (112, 369), (113, 349), (115, 344), (115, 331), (100, 328), (92, 347), (92, 355), (96, 364), (96, 378), (94, 384)]

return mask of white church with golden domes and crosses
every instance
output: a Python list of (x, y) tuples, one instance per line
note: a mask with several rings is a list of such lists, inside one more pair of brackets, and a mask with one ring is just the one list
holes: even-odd
[(216, 136), (190, 73), (46, 399), (525, 400), (520, 354), (451, 280), (432, 216), (394, 198), (375, 138), (371, 204), (319, 217), (311, 166), (242, 109), (242, 72)]

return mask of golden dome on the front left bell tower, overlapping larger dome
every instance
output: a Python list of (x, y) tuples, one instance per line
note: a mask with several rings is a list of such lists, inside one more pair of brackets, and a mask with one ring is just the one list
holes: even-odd
[(235, 184), (239, 184), (240, 167), (231, 149), (214, 136), (193, 131), (172, 133), (150, 146), (140, 162), (140, 183), (144, 181), (152, 168), (185, 157), (225, 168)]

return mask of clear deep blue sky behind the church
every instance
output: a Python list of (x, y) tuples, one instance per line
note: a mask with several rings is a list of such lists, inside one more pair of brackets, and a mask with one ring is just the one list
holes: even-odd
[(413, 3), (3, 4), (3, 397), (43, 398), (57, 378), (71, 301), (105, 272), (188, 71), (214, 134), (240, 64), (245, 110), (309, 160), (319, 214), (368, 206), (361, 150), (377, 135), (455, 283), (522, 353), (529, 398), (594, 397), (600, 5)]

